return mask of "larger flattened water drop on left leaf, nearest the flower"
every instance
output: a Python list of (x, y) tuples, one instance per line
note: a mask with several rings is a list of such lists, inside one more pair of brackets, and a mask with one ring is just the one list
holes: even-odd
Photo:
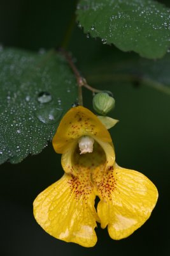
[(36, 117), (43, 124), (55, 124), (62, 114), (62, 109), (48, 106), (46, 108), (41, 108), (36, 111)]

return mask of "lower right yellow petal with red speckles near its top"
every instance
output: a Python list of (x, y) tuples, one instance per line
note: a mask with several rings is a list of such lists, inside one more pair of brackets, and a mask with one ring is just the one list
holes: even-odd
[(108, 225), (112, 239), (130, 236), (150, 217), (158, 198), (155, 185), (142, 173), (121, 168), (94, 174), (97, 193), (101, 201), (97, 214), (101, 227)]

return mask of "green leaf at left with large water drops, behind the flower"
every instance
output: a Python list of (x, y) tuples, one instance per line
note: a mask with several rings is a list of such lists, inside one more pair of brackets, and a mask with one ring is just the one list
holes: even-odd
[(60, 54), (1, 51), (0, 163), (41, 152), (76, 98), (76, 79)]

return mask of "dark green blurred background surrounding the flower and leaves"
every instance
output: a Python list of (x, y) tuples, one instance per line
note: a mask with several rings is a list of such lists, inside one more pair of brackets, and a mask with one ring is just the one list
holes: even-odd
[[(0, 1), (0, 42), (4, 46), (39, 51), (60, 45), (74, 13), (76, 1)], [(163, 2), (163, 1), (162, 1)], [(167, 4), (169, 1), (164, 1)], [(169, 4), (170, 5), (170, 4)], [(87, 38), (76, 26), (69, 50), (89, 83), (110, 90), (116, 99), (114, 118), (120, 122), (111, 130), (120, 166), (143, 172), (159, 189), (159, 201), (151, 218), (132, 236), (113, 241), (107, 229), (96, 229), (94, 248), (65, 243), (46, 234), (32, 215), (32, 202), (39, 192), (62, 174), (60, 155), (48, 147), (20, 164), (0, 167), (2, 256), (53, 255), (169, 255), (169, 145), (170, 98), (147, 86), (126, 83), (90, 82), (92, 70), (107, 60), (136, 58), (100, 40)], [(105, 62), (104, 62), (105, 61)], [(107, 66), (106, 66), (107, 67)], [(83, 91), (85, 106), (92, 109), (92, 94)], [(12, 143), (12, 141), (11, 141)]]

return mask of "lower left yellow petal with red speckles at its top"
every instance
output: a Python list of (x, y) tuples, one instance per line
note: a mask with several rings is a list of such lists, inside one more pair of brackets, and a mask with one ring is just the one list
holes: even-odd
[(85, 175), (65, 174), (34, 200), (34, 217), (51, 236), (85, 247), (97, 242), (94, 186)]

